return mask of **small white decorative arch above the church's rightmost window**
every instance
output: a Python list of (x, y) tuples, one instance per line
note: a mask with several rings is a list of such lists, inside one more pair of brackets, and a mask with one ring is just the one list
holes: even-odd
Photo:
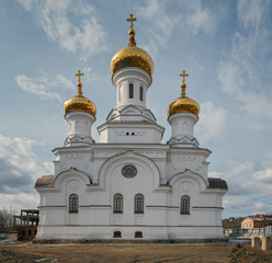
[(190, 169), (185, 169), (183, 172), (173, 175), (168, 182), (168, 184), (173, 186), (179, 181), (184, 180), (189, 182), (195, 182), (200, 187), (200, 192), (204, 191), (207, 187), (206, 181), (199, 173), (192, 172)]

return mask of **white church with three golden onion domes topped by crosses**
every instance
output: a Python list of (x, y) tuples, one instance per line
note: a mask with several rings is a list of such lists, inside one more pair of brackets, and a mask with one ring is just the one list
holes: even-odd
[[(208, 178), (211, 151), (194, 137), (199, 104), (182, 92), (168, 107), (171, 137), (147, 107), (154, 62), (136, 45), (131, 18), (128, 46), (112, 58), (116, 107), (92, 138), (97, 108), (78, 94), (65, 102), (69, 134), (53, 150), (55, 175), (37, 179), (38, 240), (188, 240), (223, 238), (227, 183)], [(178, 93), (178, 91), (177, 91)], [(102, 95), (102, 94), (101, 94)]]

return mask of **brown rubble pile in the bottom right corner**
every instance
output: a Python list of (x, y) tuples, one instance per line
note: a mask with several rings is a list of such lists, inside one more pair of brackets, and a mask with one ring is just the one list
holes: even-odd
[(228, 258), (230, 258), (229, 263), (272, 263), (272, 255), (242, 244), (236, 244)]

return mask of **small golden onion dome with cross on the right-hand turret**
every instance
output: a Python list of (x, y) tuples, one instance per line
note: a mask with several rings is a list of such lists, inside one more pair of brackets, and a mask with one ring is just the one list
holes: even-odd
[(171, 116), (174, 113), (180, 113), (180, 112), (189, 112), (199, 115), (200, 105), (197, 104), (196, 101), (185, 95), (185, 90), (186, 90), (185, 77), (188, 77), (189, 75), (185, 75), (185, 70), (183, 70), (183, 73), (180, 76), (183, 77), (183, 83), (181, 84), (181, 90), (182, 90), (181, 96), (178, 98), (168, 106), (167, 115)]

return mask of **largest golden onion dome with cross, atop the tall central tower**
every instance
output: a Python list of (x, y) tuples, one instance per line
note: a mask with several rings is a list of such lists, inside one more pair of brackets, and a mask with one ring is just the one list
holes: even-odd
[(150, 55), (144, 49), (136, 46), (135, 30), (133, 28), (133, 21), (136, 21), (131, 14), (131, 30), (128, 31), (129, 41), (128, 46), (120, 49), (112, 58), (111, 73), (112, 76), (120, 69), (126, 67), (137, 67), (146, 70), (150, 76), (154, 72), (154, 62)]

